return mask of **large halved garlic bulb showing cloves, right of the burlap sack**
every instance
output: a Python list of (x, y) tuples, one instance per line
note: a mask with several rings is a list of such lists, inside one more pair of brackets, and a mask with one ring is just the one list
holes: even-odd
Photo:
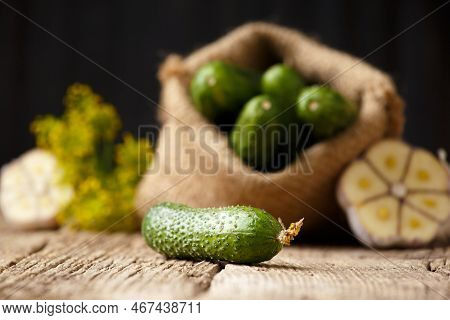
[(442, 159), (386, 139), (344, 170), (337, 200), (366, 245), (424, 246), (448, 234), (443, 229), (450, 215), (449, 181)]

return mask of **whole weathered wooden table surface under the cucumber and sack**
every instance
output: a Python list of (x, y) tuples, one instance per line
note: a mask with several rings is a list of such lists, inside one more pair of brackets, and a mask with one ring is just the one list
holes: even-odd
[(447, 299), (450, 247), (285, 248), (254, 266), (167, 260), (139, 234), (0, 229), (3, 299)]

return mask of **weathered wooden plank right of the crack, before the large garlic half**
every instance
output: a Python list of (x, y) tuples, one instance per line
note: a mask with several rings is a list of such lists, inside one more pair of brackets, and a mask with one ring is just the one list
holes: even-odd
[(228, 264), (206, 299), (445, 299), (449, 249), (288, 248), (258, 266)]

